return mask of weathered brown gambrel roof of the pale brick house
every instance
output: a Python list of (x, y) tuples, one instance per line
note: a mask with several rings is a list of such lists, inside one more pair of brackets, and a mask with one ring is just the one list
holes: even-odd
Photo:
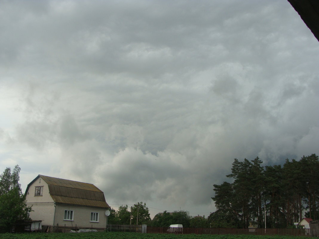
[(75, 204), (81, 206), (95, 206), (110, 208), (105, 201), (104, 193), (93, 184), (72, 181), (68, 179), (38, 175), (26, 187), (41, 177), (49, 187), (49, 193), (56, 203)]

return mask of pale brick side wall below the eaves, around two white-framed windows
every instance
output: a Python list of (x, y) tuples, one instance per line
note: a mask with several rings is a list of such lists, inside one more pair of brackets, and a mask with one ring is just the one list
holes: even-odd
[[(73, 221), (64, 220), (64, 211), (73, 210)], [(75, 206), (68, 204), (56, 204), (54, 225), (59, 224), (59, 227), (78, 227), (78, 228), (106, 228), (106, 208), (96, 208), (89, 206)], [(99, 222), (91, 222), (91, 212), (99, 213)]]

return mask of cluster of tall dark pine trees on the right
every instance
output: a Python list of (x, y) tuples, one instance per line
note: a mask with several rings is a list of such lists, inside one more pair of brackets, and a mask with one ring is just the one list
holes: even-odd
[[(289, 228), (303, 217), (319, 219), (319, 160), (312, 154), (283, 165), (234, 159), (232, 183), (214, 184), (217, 210), (209, 218), (214, 227)], [(266, 219), (265, 215), (266, 214)]]

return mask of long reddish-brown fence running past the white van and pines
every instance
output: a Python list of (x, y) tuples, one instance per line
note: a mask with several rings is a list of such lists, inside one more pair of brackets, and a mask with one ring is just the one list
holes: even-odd
[(295, 228), (182, 228), (172, 231), (168, 227), (147, 227), (147, 233), (311, 236), (310, 229)]

